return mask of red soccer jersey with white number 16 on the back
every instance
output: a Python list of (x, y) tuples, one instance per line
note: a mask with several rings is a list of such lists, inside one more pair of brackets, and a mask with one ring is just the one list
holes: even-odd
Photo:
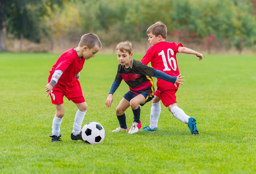
[[(170, 76), (178, 76), (180, 72), (176, 60), (176, 53), (178, 53), (179, 47), (183, 47), (183, 45), (175, 42), (159, 42), (148, 49), (141, 62), (146, 65), (151, 62), (151, 66), (154, 69), (163, 71)], [(177, 83), (176, 85), (178, 89), (179, 84)], [(176, 89), (173, 83), (162, 79), (157, 79), (156, 86), (160, 92), (167, 89)]]

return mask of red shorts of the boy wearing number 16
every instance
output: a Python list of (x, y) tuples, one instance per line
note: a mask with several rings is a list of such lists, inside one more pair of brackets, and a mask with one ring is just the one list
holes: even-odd
[(160, 91), (156, 90), (155, 96), (160, 97), (162, 103), (164, 104), (165, 107), (168, 107), (172, 103), (176, 103), (176, 93), (177, 89), (167, 89), (165, 91)]

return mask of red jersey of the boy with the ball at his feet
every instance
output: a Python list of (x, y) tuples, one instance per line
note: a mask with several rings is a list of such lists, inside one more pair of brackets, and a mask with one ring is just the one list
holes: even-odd
[(53, 74), (56, 70), (61, 70), (63, 73), (58, 80), (60, 85), (74, 86), (77, 84), (76, 74), (78, 74), (84, 66), (84, 57), (80, 59), (74, 50), (68, 49), (58, 58), (55, 65), (50, 70), (50, 74)]

